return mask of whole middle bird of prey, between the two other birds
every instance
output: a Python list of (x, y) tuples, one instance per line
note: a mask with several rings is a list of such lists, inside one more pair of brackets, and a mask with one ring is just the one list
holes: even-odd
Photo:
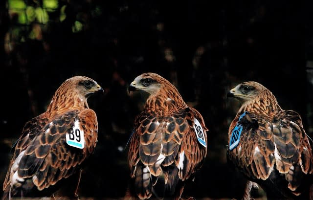
[(179, 200), (186, 181), (194, 178), (206, 156), (208, 129), (203, 118), (156, 73), (137, 76), (129, 91), (144, 98), (130, 138), (130, 196)]

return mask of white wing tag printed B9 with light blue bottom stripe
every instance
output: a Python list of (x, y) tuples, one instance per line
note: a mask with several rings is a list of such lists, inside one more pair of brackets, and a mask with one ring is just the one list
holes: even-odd
[(79, 121), (76, 120), (73, 126), (73, 129), (70, 133), (66, 133), (67, 144), (72, 147), (76, 147), (79, 149), (84, 148), (85, 139), (84, 139), (84, 131), (79, 127)]

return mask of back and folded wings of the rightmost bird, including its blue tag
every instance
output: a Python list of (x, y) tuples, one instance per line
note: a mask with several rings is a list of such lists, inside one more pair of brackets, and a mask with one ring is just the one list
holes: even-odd
[(312, 149), (297, 112), (282, 110), (273, 117), (240, 113), (229, 128), (228, 144), (228, 159), (259, 183), (268, 199), (312, 198)]

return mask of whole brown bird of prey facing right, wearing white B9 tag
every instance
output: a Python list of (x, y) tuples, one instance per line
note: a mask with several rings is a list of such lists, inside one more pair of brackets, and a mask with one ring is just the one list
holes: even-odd
[[(78, 187), (81, 166), (94, 152), (98, 135), (96, 113), (89, 109), (87, 98), (99, 90), (104, 91), (88, 77), (69, 78), (56, 90), (47, 110), (24, 125), (12, 148), (3, 200), (51, 196), (65, 185)], [(72, 175), (78, 180), (67, 182)]]

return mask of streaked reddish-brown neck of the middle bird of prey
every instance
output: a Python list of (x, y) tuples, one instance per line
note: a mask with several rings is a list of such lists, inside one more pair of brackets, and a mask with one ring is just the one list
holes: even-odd
[(144, 111), (158, 115), (171, 114), (179, 109), (187, 108), (187, 104), (179, 94), (172, 92), (157, 94), (147, 99)]

